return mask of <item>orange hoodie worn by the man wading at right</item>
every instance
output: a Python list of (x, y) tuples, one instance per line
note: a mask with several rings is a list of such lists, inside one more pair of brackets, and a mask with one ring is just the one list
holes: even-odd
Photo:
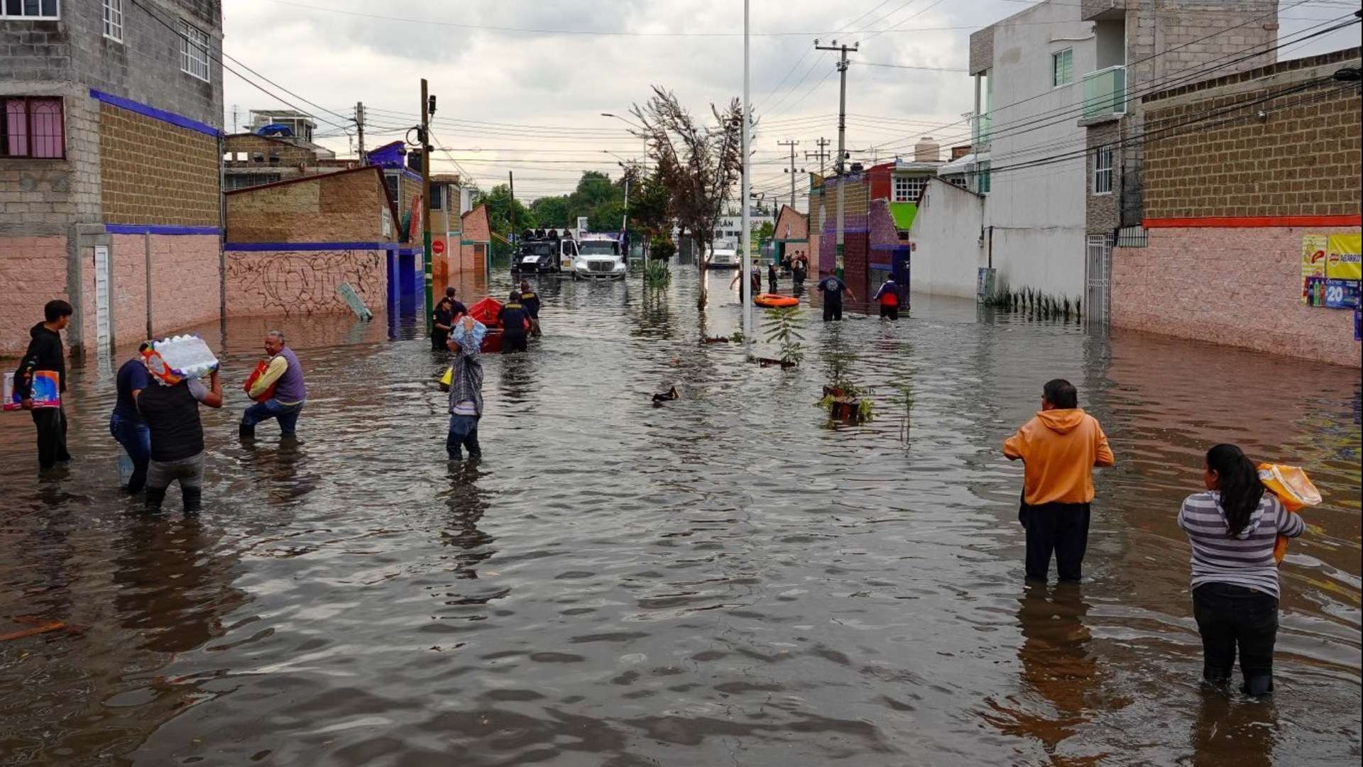
[(1026, 463), (1028, 505), (1090, 503), (1093, 467), (1116, 462), (1103, 426), (1082, 409), (1039, 411), (1003, 443), (1003, 455)]

